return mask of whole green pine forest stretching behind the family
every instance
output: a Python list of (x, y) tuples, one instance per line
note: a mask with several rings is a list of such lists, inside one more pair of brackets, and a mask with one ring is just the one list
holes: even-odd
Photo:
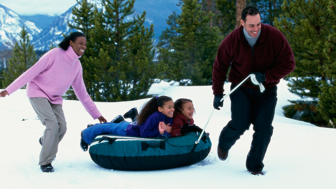
[[(166, 19), (168, 27), (156, 45), (155, 23), (144, 26), (146, 12), (134, 14), (135, 0), (102, 0), (102, 9), (87, 0), (77, 2), (75, 24), (68, 24), (87, 38), (80, 61), (87, 91), (96, 102), (149, 98), (150, 87), (160, 80), (211, 85), (219, 44), (239, 26), (241, 10), (252, 5), (259, 8), (262, 23), (282, 31), (294, 52), (296, 68), (285, 79), (301, 99), (283, 107), (285, 116), (323, 127), (336, 121), (335, 0), (180, 0), (181, 13)], [(4, 52), (10, 58), (0, 72), (0, 88), (41, 56), (24, 27), (20, 38)], [(76, 100), (72, 89), (64, 98)]]

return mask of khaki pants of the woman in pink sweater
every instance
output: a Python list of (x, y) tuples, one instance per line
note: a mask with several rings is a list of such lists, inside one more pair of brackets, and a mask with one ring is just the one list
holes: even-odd
[(51, 163), (57, 153), (58, 143), (67, 131), (62, 105), (51, 104), (43, 97), (29, 98), (37, 116), (46, 129), (42, 136), (42, 150), (40, 153), (40, 165)]

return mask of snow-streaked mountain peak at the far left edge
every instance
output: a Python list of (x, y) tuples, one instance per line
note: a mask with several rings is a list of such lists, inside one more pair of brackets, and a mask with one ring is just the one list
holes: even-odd
[(16, 41), (20, 40), (20, 32), (25, 26), (29, 33), (30, 40), (39, 34), (42, 29), (37, 27), (35, 23), (22, 18), (9, 8), (0, 4), (0, 48), (8, 49), (14, 46)]

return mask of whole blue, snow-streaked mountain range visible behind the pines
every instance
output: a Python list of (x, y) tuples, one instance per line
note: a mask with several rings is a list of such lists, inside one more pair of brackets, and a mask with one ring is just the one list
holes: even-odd
[[(97, 8), (102, 8), (101, 0), (89, 0), (89, 2), (95, 4)], [(176, 6), (178, 2), (179, 0), (136, 0), (134, 14), (142, 14), (143, 11), (146, 11), (146, 21), (144, 24), (149, 27), (151, 23), (154, 23), (154, 38), (158, 39), (161, 32), (167, 27), (166, 19), (168, 19), (168, 16), (173, 11), (178, 14), (181, 12), (180, 7)], [(0, 49), (4, 47), (10, 48), (10, 46), (15, 44), (16, 40), (20, 39), (19, 33), (22, 30), (22, 25), (26, 26), (28, 33), (32, 37), (31, 43), (34, 45), (35, 50), (49, 50), (51, 43), (56, 46), (63, 39), (62, 34), (68, 35), (71, 32), (67, 21), (73, 23), (72, 9), (75, 6), (79, 7), (80, 5), (77, 3), (73, 7), (70, 7), (65, 13), (56, 17), (48, 27), (42, 30), (41, 27), (37, 27), (36, 25), (46, 15), (39, 16), (39, 19), (32, 16), (20, 16), (0, 5)], [(36, 23), (27, 19), (35, 20)]]

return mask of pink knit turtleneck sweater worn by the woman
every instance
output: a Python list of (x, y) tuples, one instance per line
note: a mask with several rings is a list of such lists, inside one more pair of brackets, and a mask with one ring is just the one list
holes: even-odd
[(97, 119), (101, 116), (93, 103), (82, 76), (82, 65), (75, 51), (69, 46), (64, 51), (54, 48), (44, 54), (36, 64), (15, 79), (5, 90), (8, 94), (27, 84), (27, 97), (44, 97), (52, 104), (62, 104), (63, 96), (70, 85), (85, 110)]

